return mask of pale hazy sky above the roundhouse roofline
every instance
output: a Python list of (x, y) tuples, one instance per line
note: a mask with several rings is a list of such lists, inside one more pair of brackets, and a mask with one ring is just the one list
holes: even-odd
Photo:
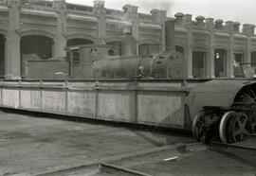
[[(68, 3), (93, 6), (93, 0), (66, 0)], [(138, 7), (139, 12), (150, 13), (151, 9), (165, 9), (168, 16), (176, 12), (238, 21), (256, 25), (256, 0), (105, 0), (105, 8), (122, 9), (125, 4)]]

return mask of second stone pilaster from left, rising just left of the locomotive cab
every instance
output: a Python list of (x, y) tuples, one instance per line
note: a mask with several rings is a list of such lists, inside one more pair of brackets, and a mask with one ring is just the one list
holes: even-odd
[(66, 45), (66, 4), (65, 0), (54, 0), (57, 13), (57, 36), (55, 39), (55, 58), (63, 60), (66, 56), (64, 47)]

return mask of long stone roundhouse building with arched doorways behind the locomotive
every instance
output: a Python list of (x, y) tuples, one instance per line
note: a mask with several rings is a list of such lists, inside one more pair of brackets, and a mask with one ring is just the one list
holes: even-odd
[[(165, 10), (150, 14), (125, 5), (123, 10), (68, 4), (65, 0), (0, 1), (0, 76), (20, 79), (27, 62), (52, 66), (66, 57), (66, 46), (113, 44), (121, 46), (124, 28), (137, 40), (141, 57), (165, 50)], [(184, 54), (188, 78), (233, 78), (234, 62), (256, 62), (254, 25), (176, 13), (175, 49)], [(47, 61), (51, 64), (44, 65)], [(79, 62), (79, 61), (76, 61)]]

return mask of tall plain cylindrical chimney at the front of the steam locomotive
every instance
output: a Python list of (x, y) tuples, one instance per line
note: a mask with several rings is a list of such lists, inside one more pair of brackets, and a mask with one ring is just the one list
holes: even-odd
[(165, 22), (165, 44), (166, 51), (175, 50), (175, 22), (174, 20), (167, 20)]

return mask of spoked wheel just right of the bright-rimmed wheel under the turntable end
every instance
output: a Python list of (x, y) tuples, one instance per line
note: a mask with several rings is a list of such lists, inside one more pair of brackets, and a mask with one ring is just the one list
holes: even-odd
[(247, 136), (247, 114), (236, 113), (232, 116), (228, 125), (228, 141), (236, 143), (243, 141)]

